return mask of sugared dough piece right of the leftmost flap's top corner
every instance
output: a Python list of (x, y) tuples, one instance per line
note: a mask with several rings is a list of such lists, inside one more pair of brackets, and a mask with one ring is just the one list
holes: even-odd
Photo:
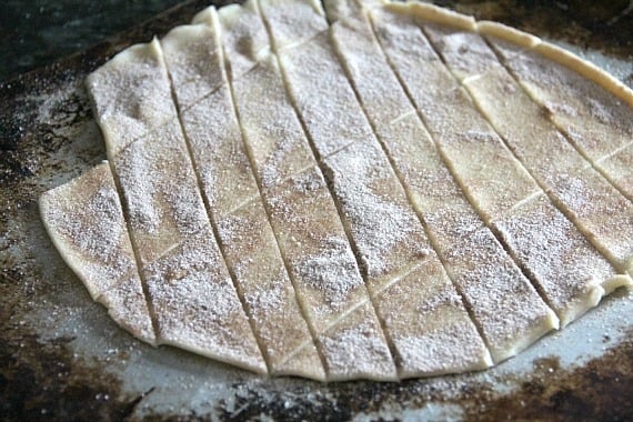
[(209, 224), (178, 121), (129, 145), (114, 169), (143, 262)]

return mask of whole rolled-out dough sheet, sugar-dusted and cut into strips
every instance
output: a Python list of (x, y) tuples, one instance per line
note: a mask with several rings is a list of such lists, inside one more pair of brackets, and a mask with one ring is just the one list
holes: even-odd
[(118, 324), (394, 381), (484, 370), (632, 284), (624, 84), (433, 6), (324, 6), (211, 7), (89, 76), (108, 161), (40, 210)]

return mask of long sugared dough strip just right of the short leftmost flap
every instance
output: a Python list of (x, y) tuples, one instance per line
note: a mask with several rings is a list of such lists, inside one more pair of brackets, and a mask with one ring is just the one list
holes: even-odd
[[(144, 49), (142, 51), (141, 49)], [(135, 66), (161, 74), (154, 81), (157, 108), (171, 110), (170, 120), (129, 143), (118, 154), (110, 151), (111, 165), (124, 198), (124, 212), (132, 245), (140, 259), (154, 312), (159, 341), (195, 351), (255, 372), (267, 366), (248, 318), (221, 259), (209, 217), (200, 195), (182, 129), (171, 99), (171, 88), (158, 41), (139, 46)], [(122, 62), (135, 78), (133, 61), (115, 57), (110, 68)], [(150, 59), (151, 58), (151, 59)], [(151, 63), (151, 64), (150, 64)], [(128, 86), (122, 81), (122, 86)], [(143, 102), (147, 92), (137, 92)], [(101, 99), (93, 93), (99, 109)], [(112, 144), (119, 144), (119, 129), (101, 127)]]

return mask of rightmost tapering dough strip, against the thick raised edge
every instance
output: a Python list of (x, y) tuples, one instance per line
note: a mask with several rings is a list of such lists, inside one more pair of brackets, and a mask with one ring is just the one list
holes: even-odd
[[(496, 38), (489, 37), (521, 87), (543, 107), (549, 118), (630, 200), (633, 200), (633, 93), (622, 89), (625, 99), (577, 73), (586, 67), (576, 58), (574, 69), (557, 63), (569, 52), (547, 44), (509, 57)], [(604, 83), (611, 77), (603, 77)], [(632, 105), (630, 105), (632, 104)], [(621, 162), (623, 164), (617, 164)]]

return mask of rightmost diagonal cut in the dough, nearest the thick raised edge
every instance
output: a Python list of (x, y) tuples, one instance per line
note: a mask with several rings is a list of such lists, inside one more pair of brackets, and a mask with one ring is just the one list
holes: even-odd
[[(490, 49), (494, 52), (494, 54), (496, 56), (496, 59), (499, 60), (500, 64), (508, 71), (508, 73), (512, 77), (512, 79), (514, 79), (514, 81), (516, 82), (516, 84), (519, 87), (521, 87), (521, 89), (523, 90), (523, 92), (525, 92), (525, 94), (528, 97), (530, 97), (530, 99), (536, 104), (539, 105), (541, 109), (543, 109), (544, 111), (546, 111), (546, 108), (536, 100), (536, 98), (534, 98), (533, 93), (530, 92), (530, 90), (525, 89), (525, 84), (521, 81), (521, 79), (519, 78), (519, 76), (516, 74), (516, 72), (508, 64), (508, 62), (505, 60), (503, 60), (503, 57), (501, 56), (501, 53), (499, 52), (499, 50), (496, 49), (496, 47), (490, 42), (490, 40), (486, 37), (482, 37), (482, 39), (485, 41), (485, 43), (490, 47)], [(481, 77), (481, 76), (476, 76), (476, 77)], [(476, 78), (476, 77), (471, 77), (471, 78)], [(466, 78), (470, 79), (470, 78)], [(466, 82), (466, 79), (464, 79), (464, 83)], [(549, 115), (549, 113), (545, 113), (545, 115)], [(629, 200), (633, 200), (633, 198), (631, 197), (631, 194), (626, 193), (626, 191), (624, 191), (619, 183), (616, 183), (613, 178), (611, 177), (611, 174), (609, 174), (604, 168), (602, 168), (600, 165), (600, 163), (606, 159), (609, 159), (610, 157), (613, 157), (615, 154), (617, 154), (620, 151), (625, 150), (629, 145), (633, 144), (633, 142), (629, 142), (620, 148), (616, 148), (615, 150), (611, 151), (611, 153), (601, 157), (596, 160), (592, 160), (591, 157), (587, 154), (587, 152), (577, 144), (577, 142), (574, 142), (573, 139), (570, 137), (569, 132), (565, 131), (563, 128), (561, 128), (561, 125), (555, 121), (555, 119), (552, 119), (551, 115), (549, 115), (547, 120), (556, 128), (557, 132), (573, 147), (573, 149), (586, 161), (586, 163), (589, 164), (587, 167), (593, 168), (596, 172), (599, 172), (615, 190), (617, 190), (617, 192), (620, 192), (623, 197), (627, 198)]]

